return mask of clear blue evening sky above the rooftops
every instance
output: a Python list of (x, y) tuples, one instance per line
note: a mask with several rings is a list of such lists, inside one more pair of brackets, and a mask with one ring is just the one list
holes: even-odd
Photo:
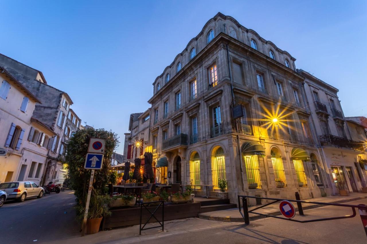
[(155, 78), (220, 11), (337, 87), (346, 116), (367, 116), (366, 1), (130, 2), (1, 1), (0, 52), (43, 71), (83, 121), (123, 142)]

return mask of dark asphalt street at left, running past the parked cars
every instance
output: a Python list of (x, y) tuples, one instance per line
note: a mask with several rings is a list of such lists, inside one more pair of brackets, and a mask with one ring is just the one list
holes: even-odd
[(0, 208), (0, 243), (47, 243), (80, 235), (74, 206), (73, 191), (7, 201)]

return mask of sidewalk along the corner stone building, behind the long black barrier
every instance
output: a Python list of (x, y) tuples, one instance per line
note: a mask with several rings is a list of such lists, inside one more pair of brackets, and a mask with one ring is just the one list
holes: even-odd
[[(321, 202), (321, 203), (345, 203), (345, 202), (351, 202), (351, 201), (360, 200), (360, 199), (367, 199), (367, 194), (351, 192), (350, 196), (316, 197), (312, 199), (306, 199), (305, 201)], [(367, 204), (367, 201), (366, 201), (366, 204)], [(293, 203), (293, 205), (296, 211), (298, 211), (297, 203)], [(325, 205), (302, 203), (302, 207), (304, 210), (323, 207), (323, 206)], [(258, 206), (253, 206), (253, 207), (249, 207), (248, 209), (252, 210), (257, 207)], [(243, 211), (242, 208), (241, 208), (241, 211)], [(269, 215), (280, 215), (281, 214), (279, 210), (279, 203), (271, 204), (264, 208), (260, 208), (257, 210), (257, 212), (260, 212), (263, 214), (269, 214)], [(261, 219), (261, 218), (266, 218), (266, 216), (262, 216), (258, 214), (249, 214), (249, 215), (250, 215), (250, 221)], [(238, 208), (230, 208), (226, 210), (201, 213), (199, 214), (199, 218), (215, 220), (215, 221), (222, 221), (222, 222), (243, 222), (244, 221)]]

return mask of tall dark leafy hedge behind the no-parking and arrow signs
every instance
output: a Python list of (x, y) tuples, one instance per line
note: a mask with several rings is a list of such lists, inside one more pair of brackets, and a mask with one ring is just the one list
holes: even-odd
[(84, 169), (84, 162), (88, 153), (90, 138), (101, 138), (106, 140), (106, 147), (103, 156), (101, 170), (95, 170), (93, 188), (96, 193), (103, 195), (106, 193), (106, 184), (110, 180), (111, 158), (113, 151), (119, 144), (117, 134), (104, 129), (88, 128), (77, 131), (67, 143), (65, 163), (69, 170), (69, 178), (72, 189), (75, 190), (77, 204), (85, 206), (88, 185), (90, 181), (90, 169)]

